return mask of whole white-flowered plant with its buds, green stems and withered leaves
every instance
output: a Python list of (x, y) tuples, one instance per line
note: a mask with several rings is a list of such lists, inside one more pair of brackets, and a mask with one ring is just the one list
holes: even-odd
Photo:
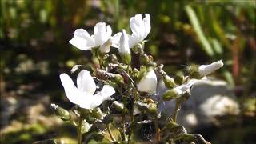
[[(132, 34), (126, 30), (113, 34), (105, 22), (94, 26), (94, 34), (86, 30), (74, 31), (69, 42), (80, 50), (90, 51), (98, 58), (98, 67), (90, 70), (76, 65), (71, 70), (78, 73), (73, 82), (70, 74), (60, 74), (66, 97), (75, 106), (66, 110), (56, 104), (52, 109), (63, 121), (77, 128), (77, 142), (88, 143), (210, 143), (200, 134), (188, 134), (178, 124), (177, 116), (182, 102), (190, 98), (190, 90), (196, 82), (223, 66), (222, 61), (210, 65), (190, 65), (168, 76), (163, 65), (144, 52), (146, 37), (150, 34), (150, 14), (136, 14), (130, 18)], [(118, 55), (110, 54), (118, 49)], [(136, 58), (136, 62), (133, 60)], [(76, 73), (75, 73), (76, 74)], [(73, 76), (72, 76), (73, 77)], [(76, 83), (76, 84), (75, 84)], [(165, 90), (160, 93), (160, 90)], [(176, 102), (170, 117), (162, 117), (162, 102)], [(138, 130), (150, 126), (148, 138), (139, 137)], [(113, 133), (115, 131), (115, 133)]]

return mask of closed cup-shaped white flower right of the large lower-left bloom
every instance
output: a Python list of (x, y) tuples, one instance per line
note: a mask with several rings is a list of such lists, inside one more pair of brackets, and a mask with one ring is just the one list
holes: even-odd
[(155, 94), (158, 84), (158, 79), (154, 70), (151, 69), (146, 75), (138, 82), (137, 88), (139, 91)]

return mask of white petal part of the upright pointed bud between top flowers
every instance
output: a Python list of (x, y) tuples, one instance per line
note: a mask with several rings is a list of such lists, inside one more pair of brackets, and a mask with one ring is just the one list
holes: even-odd
[(130, 47), (129, 47), (129, 38), (126, 34), (126, 30), (122, 30), (122, 35), (120, 38), (120, 47), (118, 49), (119, 53), (121, 54), (130, 54)]

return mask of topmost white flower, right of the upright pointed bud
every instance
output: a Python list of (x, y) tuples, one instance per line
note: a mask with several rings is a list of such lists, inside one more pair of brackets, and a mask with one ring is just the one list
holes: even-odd
[(132, 48), (138, 42), (142, 42), (150, 33), (150, 14), (145, 14), (145, 18), (143, 19), (142, 14), (136, 14), (130, 18), (130, 29), (133, 34), (129, 36), (129, 46)]

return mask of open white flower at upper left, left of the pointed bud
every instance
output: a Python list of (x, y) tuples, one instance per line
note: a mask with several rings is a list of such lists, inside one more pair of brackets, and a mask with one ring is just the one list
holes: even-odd
[(111, 34), (112, 29), (109, 25), (106, 26), (105, 22), (98, 22), (94, 26), (93, 35), (90, 35), (86, 30), (77, 29), (74, 31), (74, 38), (69, 42), (80, 50), (91, 50), (96, 46), (100, 46), (102, 53), (108, 53), (112, 42), (115, 46), (115, 43), (119, 41), (118, 38), (120, 38), (120, 34), (115, 34), (113, 37), (111, 37)]

